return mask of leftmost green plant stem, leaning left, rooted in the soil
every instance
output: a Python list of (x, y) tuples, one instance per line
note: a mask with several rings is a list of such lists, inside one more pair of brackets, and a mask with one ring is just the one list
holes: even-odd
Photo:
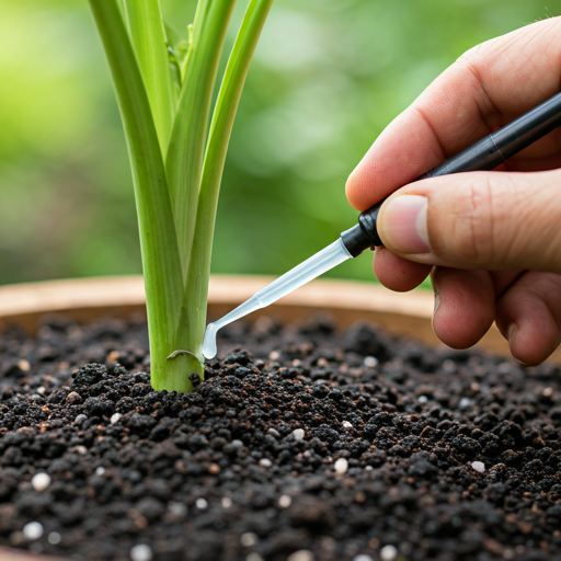
[[(168, 360), (181, 348), (175, 339), (183, 277), (165, 171), (150, 103), (116, 0), (89, 0), (125, 128), (133, 168), (145, 271), (151, 374), (154, 387), (188, 391), (188, 355)], [(192, 359), (193, 360), (193, 359)], [(202, 367), (198, 365), (198, 370)], [(163, 380), (163, 381), (162, 381)]]

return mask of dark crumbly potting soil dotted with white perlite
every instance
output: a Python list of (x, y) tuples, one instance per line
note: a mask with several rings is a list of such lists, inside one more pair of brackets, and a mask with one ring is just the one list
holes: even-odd
[(181, 396), (150, 388), (139, 321), (2, 335), (0, 545), (77, 560), (561, 559), (559, 367), (325, 318), (236, 323), (219, 350)]

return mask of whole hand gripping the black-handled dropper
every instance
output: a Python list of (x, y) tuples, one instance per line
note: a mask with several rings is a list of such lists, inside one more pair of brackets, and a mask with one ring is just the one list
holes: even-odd
[[(433, 327), (451, 347), (473, 345), (493, 321), (526, 365), (561, 342), (561, 127), (492, 172), (413, 181), (560, 89), (561, 18), (483, 43), (399, 115), (348, 178), (358, 210), (391, 195), (376, 276), (405, 291), (432, 274)], [(412, 227), (391, 203), (402, 195), (426, 197), (419, 224), (430, 247), (402, 243)]]

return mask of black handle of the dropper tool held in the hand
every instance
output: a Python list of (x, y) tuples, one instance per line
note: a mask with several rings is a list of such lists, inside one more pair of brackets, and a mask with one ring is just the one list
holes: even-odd
[[(525, 113), (508, 125), (491, 133), (462, 152), (453, 156), (419, 180), (465, 171), (489, 171), (524, 150), (561, 125), (561, 93)], [(386, 201), (386, 199), (383, 199)], [(368, 248), (383, 245), (376, 222), (383, 201), (360, 213), (358, 224), (341, 234), (353, 257)]]

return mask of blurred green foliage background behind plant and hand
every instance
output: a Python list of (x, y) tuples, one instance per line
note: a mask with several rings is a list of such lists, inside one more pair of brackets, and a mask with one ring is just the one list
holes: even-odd
[[(182, 28), (195, 0), (162, 8)], [(559, 13), (551, 0), (276, 0), (231, 139), (213, 271), (283, 273), (333, 241), (356, 220), (345, 180), (382, 128), (468, 48)], [(331, 275), (371, 278), (370, 260)], [(0, 284), (140, 271), (85, 0), (1, 0)]]

